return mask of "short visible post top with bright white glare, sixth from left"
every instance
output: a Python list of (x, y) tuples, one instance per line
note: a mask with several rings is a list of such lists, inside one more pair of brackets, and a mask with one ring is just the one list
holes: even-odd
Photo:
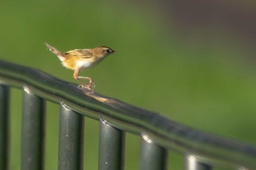
[(211, 170), (212, 166), (197, 160), (195, 155), (186, 156), (186, 170)]

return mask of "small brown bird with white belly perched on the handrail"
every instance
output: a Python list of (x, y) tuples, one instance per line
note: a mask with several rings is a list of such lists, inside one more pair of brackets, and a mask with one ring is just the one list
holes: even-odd
[[(90, 69), (100, 63), (108, 55), (117, 53), (115, 50), (106, 46), (95, 47), (92, 49), (70, 50), (66, 53), (61, 53), (55, 47), (52, 47), (47, 43), (45, 43), (45, 45), (53, 54), (57, 55), (64, 67), (75, 70), (73, 77), (75, 80), (82, 82), (82, 85), (80, 85), (81, 88), (92, 91), (94, 91), (94, 88), (96, 87), (94, 80), (92, 80), (91, 77), (79, 77), (78, 75), (80, 71)], [(89, 83), (83, 82), (81, 79), (89, 80)]]

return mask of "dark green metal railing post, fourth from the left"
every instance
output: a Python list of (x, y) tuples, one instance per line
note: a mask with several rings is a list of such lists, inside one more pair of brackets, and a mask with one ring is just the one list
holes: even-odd
[(123, 170), (125, 132), (99, 120), (99, 170)]

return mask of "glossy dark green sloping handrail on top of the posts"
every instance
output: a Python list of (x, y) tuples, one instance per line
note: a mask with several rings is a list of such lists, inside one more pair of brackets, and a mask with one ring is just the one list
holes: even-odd
[(99, 93), (85, 94), (70, 82), (64, 82), (37, 69), (0, 60), (0, 84), (24, 88), (50, 101), (63, 102), (67, 108), (124, 131), (142, 135), (167, 149), (192, 154), (207, 163), (256, 168), (254, 145), (227, 139), (168, 120)]

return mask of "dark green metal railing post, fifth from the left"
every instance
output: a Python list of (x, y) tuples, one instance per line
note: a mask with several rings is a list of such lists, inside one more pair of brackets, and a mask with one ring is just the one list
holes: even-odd
[(148, 135), (141, 136), (140, 169), (167, 169), (167, 150), (156, 144)]

